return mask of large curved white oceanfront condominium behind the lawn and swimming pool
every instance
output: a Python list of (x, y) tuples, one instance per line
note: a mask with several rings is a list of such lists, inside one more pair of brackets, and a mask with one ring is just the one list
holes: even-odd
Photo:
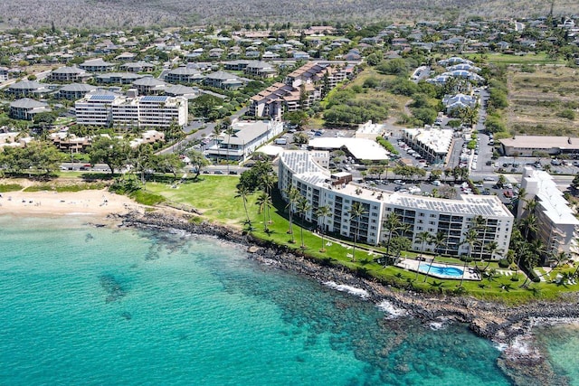
[[(351, 175), (330, 174), (307, 151), (287, 150), (280, 154), (279, 188), (287, 199), (290, 186), (296, 187), (308, 199), (311, 210), (306, 220), (318, 224), (324, 231), (335, 232), (368, 244), (387, 240), (384, 220), (394, 212), (406, 225), (405, 236), (412, 240), (413, 249), (422, 249), (418, 234), (427, 231), (432, 235), (442, 233), (446, 243), (437, 252), (460, 256), (471, 254), (474, 258), (499, 259), (500, 254), (489, 256), (485, 246), (491, 241), (506, 251), (513, 227), (513, 215), (496, 196), (462, 195), (457, 200), (415, 196), (366, 189), (351, 183)], [(360, 218), (349, 213), (355, 202), (364, 208)], [(328, 205), (332, 216), (316, 218), (318, 207)], [(465, 243), (466, 233), (477, 225), (478, 243), (472, 250)], [(426, 246), (433, 250), (434, 246)]]

